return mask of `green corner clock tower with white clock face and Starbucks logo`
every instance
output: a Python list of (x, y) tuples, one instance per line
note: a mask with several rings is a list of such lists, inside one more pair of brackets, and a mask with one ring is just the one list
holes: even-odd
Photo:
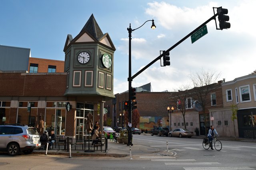
[(93, 14), (73, 39), (67, 36), (64, 46), (67, 72), (64, 96), (75, 108), (76, 103), (100, 104), (100, 127), (103, 130), (104, 102), (113, 94), (114, 44), (108, 33), (102, 33)]

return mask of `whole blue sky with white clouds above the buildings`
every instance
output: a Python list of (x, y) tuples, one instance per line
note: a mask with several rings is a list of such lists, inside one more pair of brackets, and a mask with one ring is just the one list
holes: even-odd
[[(174, 91), (191, 84), (190, 74), (210, 70), (232, 81), (256, 70), (255, 0), (0, 0), (0, 45), (31, 49), (31, 57), (64, 61), (68, 34), (76, 37), (93, 14), (116, 47), (114, 94), (128, 90), (128, 31), (132, 32), (132, 76), (214, 15), (228, 9), (230, 29), (216, 30), (191, 43), (190, 37), (170, 51), (170, 66), (160, 60), (132, 81), (151, 83), (152, 92)], [(218, 25), (218, 18), (217, 25)]]

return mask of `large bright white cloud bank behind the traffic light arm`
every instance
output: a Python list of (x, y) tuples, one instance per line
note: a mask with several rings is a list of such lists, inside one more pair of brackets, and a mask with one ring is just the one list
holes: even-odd
[[(220, 79), (226, 78), (226, 81), (254, 71), (256, 32), (252, 18), (256, 16), (253, 9), (256, 6), (255, 0), (240, 0), (226, 4), (222, 1), (221, 4), (210, 2), (196, 8), (174, 6), (167, 2), (152, 2), (148, 3), (145, 12), (150, 18), (154, 18), (157, 27), (148, 35), (144, 35), (144, 32), (133, 35), (132, 74), (158, 57), (159, 50), (170, 48), (208, 20), (214, 15), (212, 7), (219, 6), (228, 8), (230, 29), (216, 30), (215, 21), (210, 21), (207, 24), (208, 34), (193, 44), (188, 38), (170, 51), (170, 66), (160, 67), (160, 61), (157, 61), (134, 78), (132, 86), (137, 87), (151, 82), (152, 90), (160, 92), (179, 88), (182, 84), (188, 83), (188, 75), (200, 72), (202, 68), (220, 72)], [(218, 17), (216, 19), (218, 24)], [(128, 55), (127, 41), (121, 44), (118, 50), (126, 51)], [(124, 84), (124, 87), (128, 85), (127, 78)]]

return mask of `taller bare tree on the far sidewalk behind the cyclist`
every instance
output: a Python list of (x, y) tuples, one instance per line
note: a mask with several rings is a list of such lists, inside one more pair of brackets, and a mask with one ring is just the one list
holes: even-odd
[(220, 84), (216, 83), (220, 77), (220, 73), (202, 69), (200, 73), (196, 72), (195, 74), (190, 74), (189, 77), (194, 86), (194, 88), (191, 90), (192, 98), (201, 105), (202, 112), (204, 113), (205, 135), (207, 135), (208, 129), (206, 129), (206, 106), (212, 102), (210, 93), (221, 86)]

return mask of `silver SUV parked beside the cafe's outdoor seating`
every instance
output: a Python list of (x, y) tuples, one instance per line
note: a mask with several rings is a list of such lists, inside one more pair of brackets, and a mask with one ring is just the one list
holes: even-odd
[(39, 148), (40, 135), (34, 127), (27, 125), (0, 125), (0, 150), (7, 151), (9, 155), (16, 156), (22, 151), (30, 154), (33, 149)]

